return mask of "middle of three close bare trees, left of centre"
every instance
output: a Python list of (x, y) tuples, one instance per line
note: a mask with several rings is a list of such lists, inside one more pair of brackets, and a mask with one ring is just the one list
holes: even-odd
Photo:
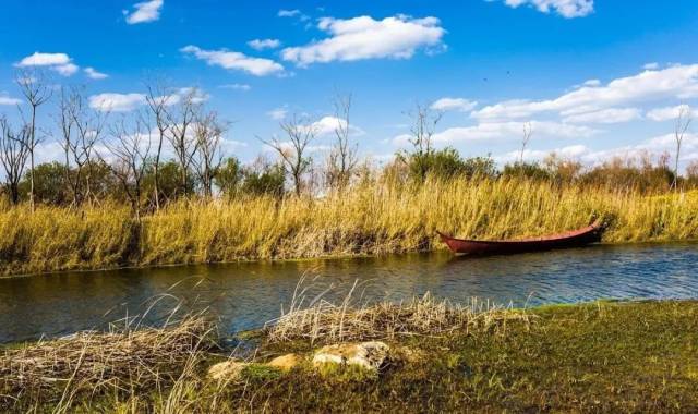
[(188, 195), (191, 183), (189, 173), (198, 143), (192, 137), (193, 123), (200, 117), (201, 94), (198, 89), (191, 88), (182, 95), (178, 95), (178, 104), (173, 109), (165, 107), (167, 120), (169, 122), (169, 134), (167, 138), (172, 145), (174, 156), (180, 167), (180, 184), (182, 194)]

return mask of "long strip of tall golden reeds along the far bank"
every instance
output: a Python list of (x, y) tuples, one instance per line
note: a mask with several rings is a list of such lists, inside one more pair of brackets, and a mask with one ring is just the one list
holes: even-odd
[(0, 210), (0, 272), (29, 273), (233, 261), (380, 255), (443, 248), (435, 230), (465, 238), (517, 238), (603, 217), (606, 242), (698, 239), (696, 193), (473, 180), (396, 188), (366, 184), (322, 199), (270, 197), (178, 202), (132, 219), (128, 207)]

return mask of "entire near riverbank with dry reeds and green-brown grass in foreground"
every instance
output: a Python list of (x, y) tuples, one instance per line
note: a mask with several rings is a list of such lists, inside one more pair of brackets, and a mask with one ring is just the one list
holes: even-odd
[[(297, 309), (261, 332), (254, 360), (222, 379), (207, 372), (226, 354), (196, 318), (184, 329), (4, 349), (0, 393), (14, 397), (2, 404), (163, 413), (698, 410), (698, 301), (324, 306)], [(311, 362), (323, 344), (363, 340), (389, 346), (377, 373)], [(139, 353), (121, 352), (136, 342)], [(289, 370), (264, 364), (289, 352), (299, 356)]]

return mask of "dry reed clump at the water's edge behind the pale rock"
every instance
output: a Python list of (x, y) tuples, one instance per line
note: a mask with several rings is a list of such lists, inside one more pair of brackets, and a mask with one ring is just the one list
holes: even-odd
[[(506, 324), (529, 324), (531, 316), (525, 309), (512, 309), (477, 297), (466, 304), (434, 299), (429, 292), (407, 302), (362, 303), (357, 295), (358, 282), (342, 301), (333, 302), (324, 296), (330, 285), (317, 295), (311, 295), (311, 285), (303, 287), (304, 278), (293, 293), (289, 310), (267, 324), (269, 342), (309, 341), (330, 343), (396, 339), (406, 336), (438, 336), (453, 331), (503, 333)], [(310, 299), (313, 296), (313, 299)]]

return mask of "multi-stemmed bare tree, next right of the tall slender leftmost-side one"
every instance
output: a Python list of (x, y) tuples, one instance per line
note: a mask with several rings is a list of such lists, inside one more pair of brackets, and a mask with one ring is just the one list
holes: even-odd
[(108, 112), (88, 107), (79, 88), (69, 93), (61, 89), (59, 125), (62, 134), (65, 178), (73, 195), (73, 205), (92, 200), (92, 176), (97, 154), (95, 146), (101, 139)]

